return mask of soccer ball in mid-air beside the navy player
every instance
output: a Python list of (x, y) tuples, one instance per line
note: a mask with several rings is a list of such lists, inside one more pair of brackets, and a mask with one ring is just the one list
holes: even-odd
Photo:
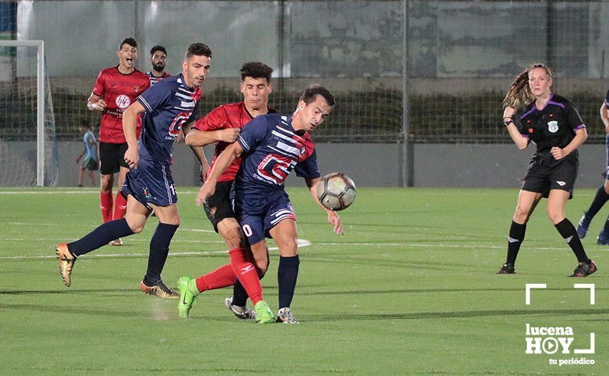
[(347, 209), (355, 200), (355, 184), (349, 176), (332, 172), (320, 181), (318, 198), (327, 209), (333, 211)]

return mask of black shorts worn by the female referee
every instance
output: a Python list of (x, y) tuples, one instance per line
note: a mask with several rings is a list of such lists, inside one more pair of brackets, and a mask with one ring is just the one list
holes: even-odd
[(573, 198), (573, 187), (578, 177), (580, 161), (576, 156), (568, 155), (560, 161), (547, 158), (531, 159), (522, 185), (523, 191), (541, 193), (544, 198), (552, 189), (569, 192)]

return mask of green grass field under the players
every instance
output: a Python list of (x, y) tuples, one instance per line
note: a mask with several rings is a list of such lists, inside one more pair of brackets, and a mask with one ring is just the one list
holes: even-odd
[[(296, 206), (300, 275), (292, 310), (300, 325), (238, 321), (224, 308), (231, 290), (204, 293), (190, 319), (177, 301), (140, 293), (148, 241), (157, 219), (122, 247), (79, 259), (66, 288), (55, 244), (99, 224), (94, 190), (0, 189), (0, 373), (271, 373), (271, 374), (597, 374), (609, 349), (609, 250), (595, 244), (606, 207), (584, 239), (599, 266), (567, 278), (571, 250), (547, 219), (545, 202), (528, 225), (517, 274), (497, 276), (516, 189), (359, 189), (344, 211), (345, 234), (333, 234), (304, 189)], [(199, 276), (227, 263), (224, 244), (196, 189), (179, 191), (182, 224), (164, 271)], [(568, 206), (576, 224), (593, 191)], [(173, 255), (172, 255), (173, 254)], [(277, 308), (278, 253), (263, 280)], [(545, 283), (525, 304), (525, 284)], [(595, 284), (594, 306), (588, 290)], [(526, 323), (570, 326), (571, 353), (526, 354)], [(588, 349), (595, 332), (595, 353)], [(549, 365), (587, 358), (594, 365)]]

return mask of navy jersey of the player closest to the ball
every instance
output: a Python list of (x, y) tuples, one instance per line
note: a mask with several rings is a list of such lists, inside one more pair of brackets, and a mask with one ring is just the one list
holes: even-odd
[(269, 113), (246, 124), (237, 142), (243, 148), (235, 177), (235, 194), (268, 196), (284, 191), (292, 170), (302, 178), (319, 178), (315, 144), (307, 132), (296, 132), (291, 116)]

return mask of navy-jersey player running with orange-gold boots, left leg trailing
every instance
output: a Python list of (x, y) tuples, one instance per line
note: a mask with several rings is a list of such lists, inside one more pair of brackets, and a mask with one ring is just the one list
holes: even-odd
[[(66, 286), (72, 283), (72, 270), (79, 256), (112, 239), (141, 232), (154, 210), (159, 225), (150, 242), (148, 269), (140, 288), (157, 297), (179, 296), (161, 280), (170, 241), (180, 224), (169, 160), (181, 127), (188, 128), (196, 120), (194, 110), (201, 96), (200, 86), (210, 66), (209, 47), (203, 43), (191, 44), (182, 63), (182, 73), (157, 83), (125, 111), (122, 124), (129, 146), (125, 152), (129, 173), (121, 192), (127, 197), (127, 214), (125, 218), (106, 222), (73, 243), (57, 245), (60, 273)], [(136, 129), (140, 114), (143, 114), (143, 125), (138, 142)]]

